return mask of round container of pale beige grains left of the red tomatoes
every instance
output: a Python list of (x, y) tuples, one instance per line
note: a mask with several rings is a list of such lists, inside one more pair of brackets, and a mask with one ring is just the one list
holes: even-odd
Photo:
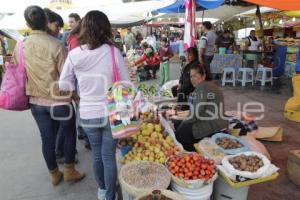
[(121, 168), (119, 180), (122, 188), (136, 197), (153, 190), (166, 189), (170, 185), (171, 175), (162, 164), (135, 161)]

